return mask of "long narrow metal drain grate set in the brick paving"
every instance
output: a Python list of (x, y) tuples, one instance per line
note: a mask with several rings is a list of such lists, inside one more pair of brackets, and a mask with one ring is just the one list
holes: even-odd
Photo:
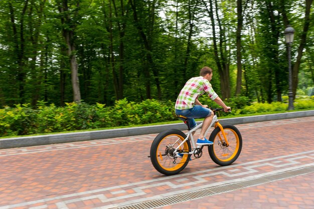
[(234, 191), (241, 188), (246, 188), (250, 186), (255, 186), (263, 183), (268, 183), (276, 180), (282, 180), (285, 178), (304, 175), (314, 172), (314, 166), (309, 166), (305, 168), (299, 168), (295, 170), (288, 170), (281, 173), (271, 174), (267, 176), (257, 177), (255, 179), (244, 180), (235, 183), (229, 183), (219, 186), (213, 186), (209, 188), (204, 188), (198, 191), (191, 191), (183, 194), (176, 194), (160, 199), (149, 200), (145, 202), (138, 202), (133, 204), (124, 205), (118, 207), (119, 209), (150, 209), (156, 207), (162, 207), (170, 204), (176, 204), (179, 202), (184, 202), (188, 200), (198, 199), (205, 196), (211, 196), (215, 194), (225, 193), (229, 191)]

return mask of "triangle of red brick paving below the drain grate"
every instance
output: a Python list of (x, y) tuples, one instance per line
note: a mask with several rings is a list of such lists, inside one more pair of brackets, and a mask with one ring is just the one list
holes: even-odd
[(161, 209), (314, 208), (314, 174), (287, 178), (210, 197), (159, 207)]

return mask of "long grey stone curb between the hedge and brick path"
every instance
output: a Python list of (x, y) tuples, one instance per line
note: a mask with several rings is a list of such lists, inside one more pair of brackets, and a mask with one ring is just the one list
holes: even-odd
[[(314, 116), (314, 110), (299, 111), (299, 112), (288, 112), (288, 113), (278, 113), (270, 115), (258, 115), (258, 116), (248, 116), (248, 117), (238, 117), (238, 118), (227, 118), (221, 119), (221, 124), (244, 124), (244, 123), (254, 123), (263, 122), (271, 120), (282, 120), (289, 118), (298, 117), (309, 117)], [(198, 122), (201, 123), (201, 122)], [(99, 131), (84, 131), (77, 133), (62, 133), (62, 134), (49, 134), (40, 136), (26, 136), (26, 137), (15, 137), (15, 138), (4, 138), (0, 139), (0, 149), (16, 148), (16, 147), (27, 147), (27, 146), (37, 146), (37, 145), (47, 145), (47, 144), (58, 144), (67, 143), (75, 141), (88, 141), (96, 139), (106, 139), (115, 137), (126, 137), (134, 135), (144, 135), (151, 133), (160, 133), (164, 130), (171, 128), (186, 130), (187, 126), (184, 123), (174, 123), (166, 125), (153, 125), (153, 126), (142, 126), (133, 128), (117, 128)]]

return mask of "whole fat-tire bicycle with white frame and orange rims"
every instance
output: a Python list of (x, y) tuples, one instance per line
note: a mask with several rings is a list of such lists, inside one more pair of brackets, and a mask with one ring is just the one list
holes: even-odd
[[(208, 146), (211, 159), (218, 165), (226, 166), (233, 163), (240, 155), (242, 149), (242, 136), (234, 125), (221, 125), (217, 113), (220, 108), (210, 108), (214, 112), (213, 121), (206, 130), (207, 136), (215, 123), (215, 128), (208, 140), (213, 145), (196, 146), (193, 132), (202, 127), (203, 123), (190, 128), (188, 120), (182, 115), (178, 117), (188, 125), (187, 134), (178, 129), (170, 129), (158, 134), (150, 147), (150, 160), (156, 170), (165, 175), (174, 175), (181, 172), (191, 160), (198, 159), (203, 154), (203, 147)], [(190, 140), (189, 140), (190, 139)], [(192, 142), (192, 147), (191, 147)], [(179, 156), (181, 154), (181, 156)], [(182, 156), (183, 155), (183, 156)], [(191, 156), (194, 159), (191, 159)], [(182, 157), (182, 158), (181, 158)]]

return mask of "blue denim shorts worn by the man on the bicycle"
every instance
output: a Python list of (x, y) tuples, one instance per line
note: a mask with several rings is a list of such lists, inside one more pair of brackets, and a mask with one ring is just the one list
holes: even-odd
[(196, 126), (194, 118), (206, 118), (211, 115), (211, 110), (201, 105), (194, 105), (194, 107), (187, 110), (177, 110), (176, 115), (183, 115), (188, 118), (189, 125), (192, 128)]

